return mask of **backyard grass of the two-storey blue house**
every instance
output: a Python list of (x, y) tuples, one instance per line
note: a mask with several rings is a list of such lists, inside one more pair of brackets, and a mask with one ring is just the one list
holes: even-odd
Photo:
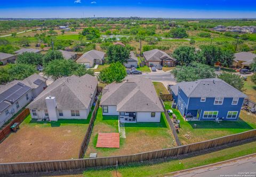
[[(166, 109), (171, 109), (171, 102), (164, 102)], [(256, 116), (248, 112), (241, 111), (238, 121), (223, 121), (220, 123), (213, 121), (190, 121), (186, 122), (177, 109), (172, 109), (180, 120), (179, 139), (182, 144), (190, 144), (199, 141), (219, 138), (235, 133), (241, 133), (256, 128)], [(196, 124), (196, 128), (194, 127)]]

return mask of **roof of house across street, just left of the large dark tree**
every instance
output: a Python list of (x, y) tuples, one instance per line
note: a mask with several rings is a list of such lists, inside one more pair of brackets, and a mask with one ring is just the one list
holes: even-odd
[(94, 63), (94, 59), (103, 59), (105, 53), (97, 50), (91, 50), (84, 53), (81, 57), (79, 57), (76, 62), (78, 63), (86, 63), (89, 62), (91, 65)]

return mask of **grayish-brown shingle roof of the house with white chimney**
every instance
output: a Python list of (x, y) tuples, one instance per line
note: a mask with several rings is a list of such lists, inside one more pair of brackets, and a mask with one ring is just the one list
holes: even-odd
[(55, 96), (59, 109), (87, 109), (97, 85), (97, 78), (88, 74), (82, 77), (62, 77), (39, 94), (27, 108), (46, 109), (45, 98)]

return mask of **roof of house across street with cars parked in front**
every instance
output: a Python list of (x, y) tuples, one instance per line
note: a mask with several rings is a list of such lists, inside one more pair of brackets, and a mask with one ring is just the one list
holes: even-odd
[(170, 57), (170, 55), (158, 49), (153, 49), (151, 51), (143, 52), (143, 56), (145, 57), (146, 61), (161, 61), (166, 59), (175, 61), (175, 59)]

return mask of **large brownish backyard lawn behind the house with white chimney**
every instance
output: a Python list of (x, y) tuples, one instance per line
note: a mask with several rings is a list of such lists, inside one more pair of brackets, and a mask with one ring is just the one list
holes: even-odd
[(37, 122), (29, 115), (17, 133), (11, 133), (0, 144), (0, 163), (78, 158), (89, 121)]

